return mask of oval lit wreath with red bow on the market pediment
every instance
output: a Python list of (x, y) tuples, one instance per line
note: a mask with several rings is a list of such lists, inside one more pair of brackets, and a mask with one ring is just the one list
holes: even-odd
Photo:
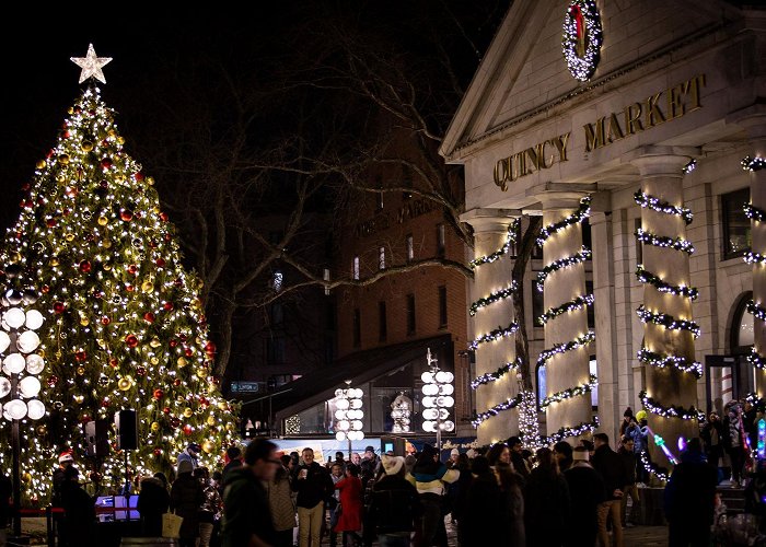
[(601, 57), (601, 18), (593, 0), (572, 0), (564, 16), (561, 47), (569, 72), (581, 82), (595, 72)]

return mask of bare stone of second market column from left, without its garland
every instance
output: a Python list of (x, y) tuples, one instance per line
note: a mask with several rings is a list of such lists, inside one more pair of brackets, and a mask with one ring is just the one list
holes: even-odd
[[(574, 213), (582, 194), (548, 193), (539, 195), (543, 203), (543, 230)], [(582, 251), (582, 225), (574, 222), (552, 234), (543, 245), (543, 261), (548, 269), (557, 260), (574, 257)], [(559, 263), (560, 264), (560, 263)], [(549, 311), (585, 295), (585, 268), (582, 261), (564, 266), (547, 275), (544, 281), (545, 310)], [(545, 350), (582, 339), (588, 330), (588, 310), (577, 310), (549, 318), (545, 323)], [(578, 346), (545, 360), (546, 396), (557, 396), (567, 389), (589, 383), (589, 345)], [(591, 394), (582, 393), (545, 407), (548, 437), (559, 430), (579, 429), (591, 423)], [(557, 435), (558, 437), (558, 435)], [(562, 437), (572, 437), (565, 434)]]

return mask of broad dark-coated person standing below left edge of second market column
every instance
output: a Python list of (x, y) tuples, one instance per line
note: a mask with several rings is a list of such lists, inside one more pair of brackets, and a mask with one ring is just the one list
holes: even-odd
[(526, 544), (559, 547), (571, 534), (569, 487), (550, 449), (537, 450), (535, 457), (537, 467), (532, 469), (524, 487)]

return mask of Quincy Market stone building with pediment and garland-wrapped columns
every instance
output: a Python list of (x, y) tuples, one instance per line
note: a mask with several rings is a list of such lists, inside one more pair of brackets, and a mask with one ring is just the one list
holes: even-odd
[[(746, 307), (764, 316), (766, 11), (517, 0), (441, 153), (465, 166), (479, 259), (479, 443), (519, 430), (511, 298), (546, 314), (524, 321), (548, 435), (597, 417), (614, 439), (646, 406), (670, 445), (698, 433), (699, 410), (763, 396), (763, 321)], [(509, 228), (541, 214), (542, 253), (504, 298)]]

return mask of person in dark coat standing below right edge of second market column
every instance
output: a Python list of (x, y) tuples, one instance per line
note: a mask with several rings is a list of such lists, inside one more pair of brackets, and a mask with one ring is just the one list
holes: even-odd
[(593, 547), (599, 535), (599, 505), (606, 501), (604, 479), (589, 463), (588, 449), (577, 446), (572, 451), (572, 465), (564, 472), (571, 500), (571, 529), (567, 547)]

